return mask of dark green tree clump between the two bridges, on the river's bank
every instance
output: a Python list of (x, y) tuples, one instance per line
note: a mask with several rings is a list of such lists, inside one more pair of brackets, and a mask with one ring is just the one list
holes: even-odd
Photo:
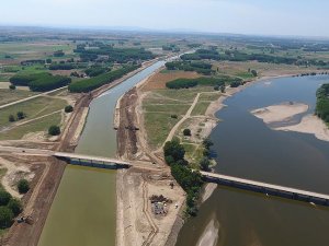
[(163, 148), (164, 160), (170, 166), (174, 179), (186, 192), (186, 214), (195, 216), (197, 213), (197, 201), (203, 185), (202, 176), (193, 171), (184, 159), (185, 150), (178, 139), (166, 142)]

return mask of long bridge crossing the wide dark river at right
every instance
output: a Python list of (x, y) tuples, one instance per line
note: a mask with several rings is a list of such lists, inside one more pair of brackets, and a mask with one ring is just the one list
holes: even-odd
[(271, 185), (262, 181), (253, 181), (245, 178), (201, 172), (206, 181), (216, 183), (223, 186), (238, 189), (251, 190), (266, 194), (270, 196), (282, 197), (298, 201), (313, 202), (320, 206), (329, 206), (329, 196), (324, 194), (311, 192), (302, 189), (290, 188), (285, 186)]

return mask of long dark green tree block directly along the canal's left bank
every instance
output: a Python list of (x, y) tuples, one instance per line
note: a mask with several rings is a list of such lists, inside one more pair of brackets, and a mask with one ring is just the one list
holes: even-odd
[(114, 80), (117, 80), (125, 74), (136, 70), (139, 68), (139, 66), (126, 66), (124, 68), (110, 71), (100, 75), (97, 75), (94, 78), (88, 79), (88, 80), (81, 80), (81, 81), (76, 81), (72, 82), (69, 85), (69, 91), (70, 92), (91, 92), (104, 84), (109, 84), (113, 82)]

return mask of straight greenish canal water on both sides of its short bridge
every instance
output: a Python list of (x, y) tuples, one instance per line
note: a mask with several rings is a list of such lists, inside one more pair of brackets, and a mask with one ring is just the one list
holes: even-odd
[[(163, 65), (156, 62), (92, 101), (77, 153), (115, 156), (117, 99)], [(38, 246), (114, 246), (115, 225), (115, 171), (68, 165)]]

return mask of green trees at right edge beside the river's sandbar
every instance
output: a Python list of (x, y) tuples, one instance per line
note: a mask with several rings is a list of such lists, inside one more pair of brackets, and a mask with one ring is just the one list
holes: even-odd
[(316, 114), (329, 125), (329, 84), (322, 84), (317, 91)]

